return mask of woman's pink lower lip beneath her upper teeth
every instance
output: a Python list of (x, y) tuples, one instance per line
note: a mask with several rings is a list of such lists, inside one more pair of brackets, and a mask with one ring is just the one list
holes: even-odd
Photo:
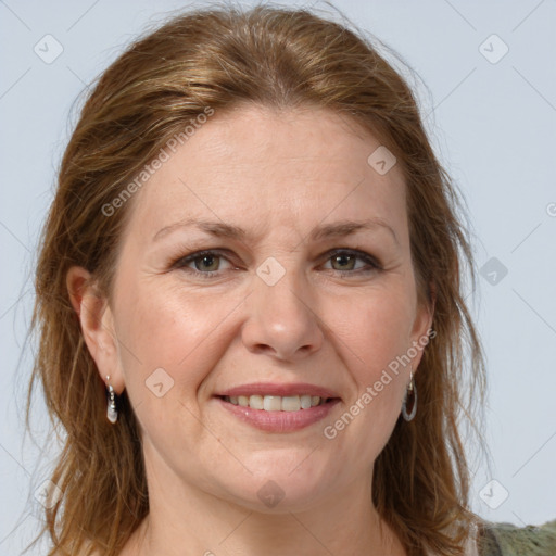
[(304, 429), (324, 419), (332, 407), (340, 402), (339, 399), (334, 399), (323, 405), (298, 412), (265, 412), (264, 409), (233, 405), (222, 397), (216, 400), (242, 421), (267, 432), (292, 432)]

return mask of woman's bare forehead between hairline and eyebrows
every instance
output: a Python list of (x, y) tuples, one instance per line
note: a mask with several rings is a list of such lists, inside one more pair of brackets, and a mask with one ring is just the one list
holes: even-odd
[[(141, 233), (185, 218), (290, 227), (369, 215), (405, 225), (401, 169), (377, 172), (379, 139), (321, 109), (217, 112), (172, 152), (134, 200)], [(380, 152), (380, 151), (379, 151)], [(135, 224), (134, 224), (135, 223)]]

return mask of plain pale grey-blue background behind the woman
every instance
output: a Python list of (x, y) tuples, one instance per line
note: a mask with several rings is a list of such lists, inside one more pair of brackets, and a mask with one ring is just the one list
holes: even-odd
[[(0, 1), (0, 555), (20, 554), (37, 531), (34, 492), (48, 478), (48, 457), (54, 455), (39, 459), (31, 440), (23, 442), (33, 355), (24, 341), (38, 230), (75, 122), (72, 104), (146, 25), (187, 5)], [(476, 300), (490, 378), (485, 434), (492, 459), (490, 468), (481, 462), (475, 477), (475, 509), (517, 525), (555, 519), (556, 2), (336, 5), (427, 84), (429, 91), (415, 85), (434, 147), (467, 200), (478, 266), (496, 257), (507, 268), (502, 278), (500, 265), (486, 266), (479, 290), (468, 298)], [(331, 13), (324, 3), (317, 7)], [(48, 34), (63, 48), (50, 64), (34, 51), (38, 45), (43, 56), (55, 52), (52, 39), (43, 39)], [(497, 60), (506, 46), (507, 54)], [(494, 278), (497, 283), (490, 283)], [(39, 446), (47, 419), (36, 403)], [(492, 479), (498, 482), (489, 485)]]

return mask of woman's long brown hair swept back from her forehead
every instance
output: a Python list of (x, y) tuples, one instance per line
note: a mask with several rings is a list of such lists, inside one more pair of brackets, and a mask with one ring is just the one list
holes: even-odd
[[(106, 204), (184, 126), (207, 108), (251, 102), (315, 105), (371, 131), (401, 164), (419, 299), (434, 303), (434, 339), (416, 376), (419, 407), (400, 420), (375, 464), (372, 497), (412, 556), (463, 553), (472, 518), (459, 417), (466, 392), (483, 391), (480, 340), (464, 300), (468, 231), (457, 190), (437, 160), (404, 78), (345, 24), (306, 10), (214, 8), (181, 14), (132, 43), (88, 94), (66, 148), (41, 237), (29, 384), (66, 432), (51, 480), (62, 498), (46, 509), (50, 555), (88, 546), (117, 555), (149, 513), (138, 425), (126, 392), (117, 426), (105, 418), (104, 383), (88, 353), (66, 289), (71, 266), (87, 268), (109, 296), (129, 202)], [(469, 372), (465, 364), (469, 363)]]

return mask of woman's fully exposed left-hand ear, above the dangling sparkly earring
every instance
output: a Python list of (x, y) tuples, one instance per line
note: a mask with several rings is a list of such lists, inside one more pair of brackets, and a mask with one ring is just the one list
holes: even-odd
[(72, 306), (81, 326), (85, 343), (97, 364), (102, 381), (106, 376), (116, 394), (125, 388), (114, 318), (108, 299), (101, 294), (88, 270), (72, 266), (66, 274), (66, 287)]

